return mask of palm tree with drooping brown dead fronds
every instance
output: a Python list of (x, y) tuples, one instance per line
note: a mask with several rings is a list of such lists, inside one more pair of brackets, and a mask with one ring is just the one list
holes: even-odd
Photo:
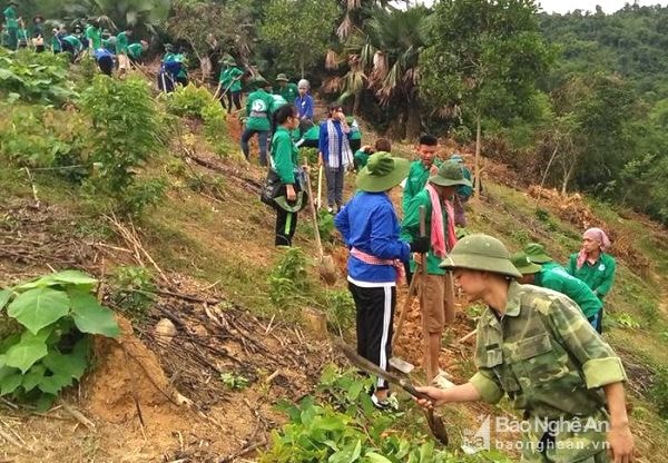
[(375, 8), (364, 24), (345, 42), (348, 72), (342, 79), (344, 96), (355, 96), (357, 109), (364, 88), (374, 92), (383, 106), (397, 108), (399, 134), (416, 137), (420, 134), (420, 52), (428, 42), (426, 21), (430, 10), (424, 7), (402, 11)]

